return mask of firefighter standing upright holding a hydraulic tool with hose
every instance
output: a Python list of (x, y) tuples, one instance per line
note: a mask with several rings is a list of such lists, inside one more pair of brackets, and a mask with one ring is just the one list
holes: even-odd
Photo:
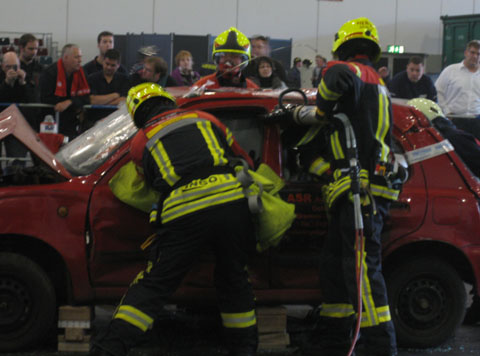
[(365, 239), (361, 339), (369, 356), (397, 354), (381, 270), (380, 233), (390, 202), (399, 194), (396, 183), (400, 181), (393, 178), (401, 174), (395, 172), (391, 149), (390, 98), (372, 67), (380, 51), (377, 29), (369, 19), (346, 22), (335, 35), (332, 52), (336, 61), (323, 70), (316, 106), (287, 106), (267, 117), (310, 125), (286, 129), (285, 142), (298, 147), (299, 161), (310, 173), (329, 175), (329, 183), (323, 186), (329, 216), (320, 263), (323, 303), (313, 333), (314, 347), (306, 353), (345, 356), (353, 342), (358, 315), (358, 229), (352, 201), (358, 190)]

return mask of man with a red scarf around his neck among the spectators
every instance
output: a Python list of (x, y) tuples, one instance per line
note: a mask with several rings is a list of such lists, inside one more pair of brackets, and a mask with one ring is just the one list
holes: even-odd
[(73, 139), (78, 134), (83, 105), (90, 102), (90, 87), (83, 72), (82, 51), (75, 44), (66, 44), (62, 56), (40, 77), (43, 103), (53, 104), (60, 113), (59, 133)]

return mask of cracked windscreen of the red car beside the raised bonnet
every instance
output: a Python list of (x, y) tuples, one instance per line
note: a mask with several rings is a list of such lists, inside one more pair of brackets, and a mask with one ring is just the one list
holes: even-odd
[(87, 175), (102, 165), (137, 128), (125, 105), (63, 146), (55, 158), (73, 176)]

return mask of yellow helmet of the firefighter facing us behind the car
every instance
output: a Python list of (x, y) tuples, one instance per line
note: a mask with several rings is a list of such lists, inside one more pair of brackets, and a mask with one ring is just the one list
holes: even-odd
[(246, 62), (250, 59), (250, 41), (235, 27), (230, 27), (213, 41), (212, 59), (215, 63), (222, 53), (239, 54), (243, 57), (242, 62)]

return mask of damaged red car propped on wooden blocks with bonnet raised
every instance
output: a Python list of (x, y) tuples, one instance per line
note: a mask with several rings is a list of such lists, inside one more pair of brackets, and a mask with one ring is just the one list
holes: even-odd
[[(296, 204), (297, 219), (278, 247), (252, 262), (258, 304), (319, 304), (327, 230), (321, 189), (299, 171), (295, 150), (282, 147), (278, 127), (259, 118), (278, 104), (279, 93), (174, 94), (181, 107), (219, 117), (256, 164), (268, 164), (287, 181), (283, 194)], [(315, 92), (306, 94), (313, 102)], [(286, 99), (298, 101), (295, 94)], [(394, 124), (395, 149), (411, 164), (383, 232), (384, 273), (400, 345), (430, 347), (462, 322), (464, 283), (479, 292), (480, 184), (421, 113), (395, 103)], [(26, 159), (1, 165), (0, 352), (44, 339), (59, 305), (118, 301), (143, 268), (148, 218), (117, 200), (108, 185), (130, 160), (135, 132), (123, 107), (54, 155), (16, 107), (0, 113), (0, 140), (18, 140), (29, 150)], [(212, 266), (204, 256), (172, 303), (214, 303)]]

